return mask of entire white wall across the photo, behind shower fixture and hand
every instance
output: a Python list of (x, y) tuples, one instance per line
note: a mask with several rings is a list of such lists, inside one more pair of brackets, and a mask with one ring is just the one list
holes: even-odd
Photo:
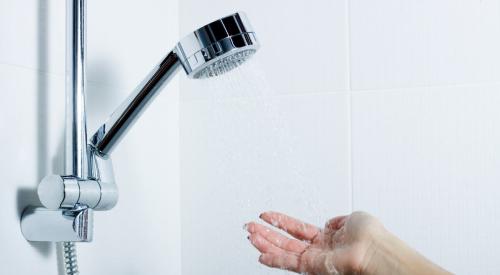
[[(58, 273), (55, 247), (26, 242), (19, 215), (62, 166), (60, 2), (0, 0), (0, 274)], [(218, 79), (176, 79), (128, 134), (120, 201), (79, 245), (82, 274), (283, 274), (257, 264), (241, 229), (268, 209), (318, 225), (366, 210), (454, 272), (500, 272), (499, 1), (88, 10), (89, 131), (207, 21), (246, 11), (262, 48)]]

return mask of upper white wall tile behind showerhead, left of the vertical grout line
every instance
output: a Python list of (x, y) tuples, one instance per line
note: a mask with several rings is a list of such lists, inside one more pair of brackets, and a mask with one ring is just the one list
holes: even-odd
[(261, 42), (255, 55), (270, 84), (282, 93), (347, 88), (346, 1), (180, 2), (181, 35), (235, 11), (244, 11)]

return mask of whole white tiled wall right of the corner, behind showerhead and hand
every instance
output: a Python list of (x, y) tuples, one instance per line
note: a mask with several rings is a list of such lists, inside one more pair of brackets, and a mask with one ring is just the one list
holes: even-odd
[(499, 273), (500, 2), (188, 0), (181, 33), (237, 10), (252, 64), (181, 81), (183, 274), (280, 274), (235, 229), (267, 209), (365, 210), (456, 273)]

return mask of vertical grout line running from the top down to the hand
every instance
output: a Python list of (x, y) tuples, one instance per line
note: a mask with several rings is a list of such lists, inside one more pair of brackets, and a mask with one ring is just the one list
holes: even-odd
[(346, 5), (345, 5), (345, 13), (346, 13), (346, 47), (347, 47), (347, 63), (346, 63), (346, 72), (347, 72), (347, 90), (349, 91), (349, 97), (348, 97), (348, 112), (349, 112), (349, 126), (348, 126), (348, 143), (349, 143), (349, 148), (347, 149), (348, 151), (348, 174), (349, 174), (349, 210), (350, 212), (354, 211), (354, 182), (353, 182), (353, 176), (352, 176), (352, 79), (351, 79), (351, 6), (350, 6), (350, 0), (345, 0)]

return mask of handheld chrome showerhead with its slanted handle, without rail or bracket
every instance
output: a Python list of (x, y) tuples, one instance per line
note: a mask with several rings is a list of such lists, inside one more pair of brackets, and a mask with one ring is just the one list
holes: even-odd
[(192, 32), (177, 43), (92, 136), (96, 154), (110, 154), (179, 67), (184, 68), (189, 78), (217, 76), (238, 67), (258, 49), (253, 28), (243, 13), (229, 15)]

